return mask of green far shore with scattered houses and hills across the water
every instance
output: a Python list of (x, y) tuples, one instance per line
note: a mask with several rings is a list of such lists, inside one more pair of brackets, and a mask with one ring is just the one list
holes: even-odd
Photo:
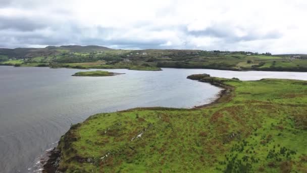
[(307, 55), (203, 50), (114, 50), (99, 46), (1, 49), (0, 65), (53, 68), (307, 71)]

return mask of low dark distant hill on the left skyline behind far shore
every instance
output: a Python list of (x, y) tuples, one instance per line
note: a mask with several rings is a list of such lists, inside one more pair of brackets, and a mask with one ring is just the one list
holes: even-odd
[(0, 48), (0, 55), (5, 55), (8, 57), (37, 57), (37, 56), (56, 55), (63, 52), (97, 52), (104, 50), (112, 50), (112, 49), (102, 46), (78, 46), (78, 45), (68, 45), (60, 47), (48, 46), (46, 48), (15, 48), (15, 49)]

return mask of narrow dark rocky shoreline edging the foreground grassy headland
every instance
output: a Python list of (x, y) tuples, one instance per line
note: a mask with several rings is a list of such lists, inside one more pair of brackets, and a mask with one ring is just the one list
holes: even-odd
[[(193, 75), (190, 75), (190, 76), (193, 76)], [(191, 79), (191, 80), (197, 80), (199, 82), (207, 82), (207, 83), (210, 83), (214, 86), (222, 88), (223, 90), (219, 92), (219, 94), (217, 95), (217, 98), (213, 102), (208, 103), (208, 104), (204, 104), (204, 105), (200, 105), (200, 106), (194, 106), (193, 108), (136, 107), (136, 108), (126, 109), (126, 110), (122, 110), (122, 111), (118, 111), (118, 112), (128, 112), (128, 111), (131, 111), (131, 110), (138, 110), (138, 109), (142, 109), (142, 110), (144, 110), (144, 109), (146, 109), (146, 110), (197, 110), (197, 109), (213, 106), (213, 105), (216, 105), (216, 104), (219, 104), (219, 103), (225, 103), (225, 102), (228, 102), (232, 99), (231, 94), (234, 92), (234, 87), (229, 86), (229, 85), (225, 85), (222, 82), (218, 82), (218, 81), (214, 81), (214, 80), (201, 80), (202, 78), (192, 78), (190, 76), (187, 76), (187, 78)], [(69, 132), (69, 131), (70, 131), (70, 129), (67, 132)], [(65, 134), (63, 136), (65, 136)], [(58, 143), (58, 146), (59, 146), (59, 144), (60, 144), (60, 141)], [(57, 147), (55, 147), (54, 149), (52, 149), (52, 150), (50, 150), (46, 153), (46, 157), (45, 157), (46, 159), (40, 160), (40, 163), (42, 164), (42, 168), (43, 168), (42, 169), (43, 173), (54, 173), (54, 172), (60, 173), (57, 169), (58, 169), (59, 163), (61, 161), (61, 151)]]

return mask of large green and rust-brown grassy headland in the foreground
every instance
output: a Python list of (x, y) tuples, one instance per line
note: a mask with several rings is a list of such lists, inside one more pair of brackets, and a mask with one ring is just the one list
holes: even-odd
[(225, 88), (222, 97), (90, 116), (61, 138), (45, 171), (307, 171), (307, 81), (188, 78)]

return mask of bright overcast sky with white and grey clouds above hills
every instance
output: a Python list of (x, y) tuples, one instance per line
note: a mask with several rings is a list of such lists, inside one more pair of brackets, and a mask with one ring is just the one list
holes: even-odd
[(305, 0), (0, 0), (0, 47), (307, 54)]

